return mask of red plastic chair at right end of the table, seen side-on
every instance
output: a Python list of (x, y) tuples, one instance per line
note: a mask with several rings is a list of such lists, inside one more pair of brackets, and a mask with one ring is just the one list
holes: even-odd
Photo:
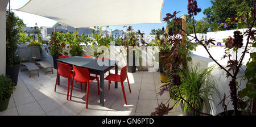
[(123, 87), (123, 81), (125, 81), (126, 78), (127, 78), (127, 82), (128, 82), (128, 85), (129, 85), (129, 90), (130, 90), (130, 93), (131, 93), (131, 87), (130, 87), (129, 79), (128, 79), (128, 76), (127, 76), (127, 66), (122, 68), (120, 75), (118, 75), (118, 74), (109, 74), (108, 77), (105, 78), (105, 80), (109, 81), (109, 90), (110, 90), (110, 81), (121, 82), (122, 91), (123, 91), (123, 98), (125, 99), (125, 104), (127, 105), (126, 96), (125, 96), (125, 88)]

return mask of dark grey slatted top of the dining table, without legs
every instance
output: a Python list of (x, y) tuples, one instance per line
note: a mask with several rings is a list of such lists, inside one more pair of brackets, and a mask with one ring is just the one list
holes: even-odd
[[(118, 63), (118, 61), (113, 61), (113, 60), (102, 60), (102, 59), (79, 57), (79, 56), (60, 58), (60, 59), (56, 59), (56, 60), (63, 62), (65, 64), (79, 66), (79, 67), (85, 67), (88, 69), (93, 69), (93, 70), (98, 70), (98, 71), (105, 71), (110, 66), (115, 66), (115, 63)], [(99, 65), (98, 60), (102, 61), (102, 64), (100, 63), (100, 65)], [(103, 65), (104, 63), (105, 63), (105, 65)]]

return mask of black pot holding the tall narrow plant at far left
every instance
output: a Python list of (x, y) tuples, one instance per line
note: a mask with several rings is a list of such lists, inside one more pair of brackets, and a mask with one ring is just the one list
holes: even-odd
[(17, 85), (18, 77), (19, 77), (19, 67), (20, 64), (15, 64), (13, 67), (6, 66), (6, 75), (9, 75), (14, 85)]

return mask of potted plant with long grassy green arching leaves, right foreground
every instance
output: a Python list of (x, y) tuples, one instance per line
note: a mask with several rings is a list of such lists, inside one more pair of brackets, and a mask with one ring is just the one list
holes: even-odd
[(180, 77), (181, 85), (174, 85), (172, 90), (177, 91), (174, 96), (177, 104), (181, 104), (183, 115), (201, 115), (204, 105), (206, 108), (210, 107), (209, 102), (212, 101), (213, 95), (220, 97), (214, 78), (210, 74), (212, 70), (213, 67), (199, 70), (197, 64), (172, 75), (172, 82), (176, 82), (177, 77)]

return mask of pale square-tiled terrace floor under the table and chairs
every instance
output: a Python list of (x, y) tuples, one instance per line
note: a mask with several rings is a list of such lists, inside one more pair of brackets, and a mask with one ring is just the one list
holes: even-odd
[[(114, 71), (111, 70), (112, 73)], [(106, 73), (108, 75), (108, 73)], [(60, 86), (54, 92), (56, 81), (56, 70), (54, 74), (44, 74), (40, 69), (39, 77), (28, 77), (28, 72), (19, 72), (18, 84), (13, 96), (10, 99), (9, 107), (0, 115), (97, 115), (97, 116), (149, 116), (151, 112), (162, 101), (169, 99), (168, 92), (162, 96), (157, 96), (159, 92), (159, 73), (149, 73), (147, 71), (137, 71), (128, 73), (131, 93), (127, 82), (125, 91), (127, 105), (123, 100), (121, 85), (114, 88), (114, 82), (108, 90), (108, 81), (105, 81), (105, 105), (99, 105), (100, 97), (97, 94), (97, 82), (90, 83), (88, 109), (86, 105), (86, 91), (80, 90), (80, 84), (74, 83), (72, 100), (67, 100), (67, 80), (60, 78)], [(118, 83), (119, 84), (119, 83)], [(176, 109), (168, 115), (181, 115), (181, 109)]]

